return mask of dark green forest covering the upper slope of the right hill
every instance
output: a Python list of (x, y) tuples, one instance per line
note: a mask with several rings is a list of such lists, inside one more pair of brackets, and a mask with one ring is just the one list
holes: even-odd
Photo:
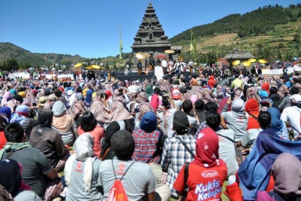
[(268, 5), (246, 14), (231, 14), (210, 24), (204, 24), (185, 30), (169, 39), (172, 44), (182, 40), (189, 40), (191, 30), (196, 37), (213, 36), (219, 33), (238, 33), (239, 37), (265, 34), (274, 29), (275, 25), (297, 21), (301, 17), (301, 10), (293, 14), (292, 9), (300, 9), (301, 4), (290, 5), (289, 8)]

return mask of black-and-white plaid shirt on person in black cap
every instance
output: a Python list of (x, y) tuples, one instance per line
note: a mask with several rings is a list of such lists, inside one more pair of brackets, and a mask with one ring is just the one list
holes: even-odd
[[(193, 136), (191, 135), (178, 135), (178, 137), (183, 140), (189, 149), (195, 154), (195, 142)], [(176, 138), (167, 138), (164, 143), (163, 153), (162, 153), (162, 170), (167, 170), (166, 184), (171, 189), (172, 195), (178, 197), (173, 184), (175, 179), (184, 165), (185, 162), (192, 162), (194, 158), (185, 149), (182, 143)]]

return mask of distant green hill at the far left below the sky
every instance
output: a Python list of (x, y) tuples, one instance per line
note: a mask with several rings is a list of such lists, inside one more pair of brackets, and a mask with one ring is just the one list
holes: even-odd
[(15, 58), (20, 64), (30, 64), (33, 66), (47, 66), (53, 65), (54, 63), (71, 64), (86, 59), (79, 55), (32, 53), (10, 42), (0, 42), (0, 62), (8, 58)]

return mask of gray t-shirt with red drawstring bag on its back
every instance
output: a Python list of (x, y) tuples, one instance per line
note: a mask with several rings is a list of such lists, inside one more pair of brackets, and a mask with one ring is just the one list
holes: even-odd
[[(113, 159), (116, 178), (120, 179), (124, 172), (134, 161), (120, 161), (116, 157)], [(101, 163), (99, 173), (100, 185), (104, 188), (104, 199), (107, 200), (110, 190), (115, 182), (112, 160), (105, 160)], [(122, 184), (126, 195), (131, 201), (140, 201), (156, 189), (156, 179), (151, 168), (140, 162), (135, 162), (126, 172), (122, 179)]]

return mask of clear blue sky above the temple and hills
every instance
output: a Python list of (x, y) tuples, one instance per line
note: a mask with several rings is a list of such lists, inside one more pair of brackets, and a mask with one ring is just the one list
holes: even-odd
[[(149, 1), (144, 0), (1, 0), (0, 42), (12, 42), (31, 52), (63, 53), (88, 58), (130, 52)], [(228, 14), (244, 14), (268, 4), (297, 0), (153, 0), (167, 36), (211, 23)]]

